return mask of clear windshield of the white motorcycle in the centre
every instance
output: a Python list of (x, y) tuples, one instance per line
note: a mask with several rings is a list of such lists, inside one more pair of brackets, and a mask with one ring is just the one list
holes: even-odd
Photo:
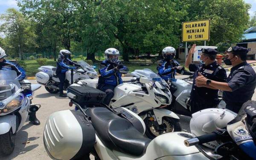
[(135, 70), (134, 72), (140, 76), (148, 78), (150, 81), (158, 81), (162, 85), (167, 85), (165, 80), (163, 80), (160, 76), (157, 75), (157, 73), (154, 73), (150, 69), (145, 68), (143, 70)]

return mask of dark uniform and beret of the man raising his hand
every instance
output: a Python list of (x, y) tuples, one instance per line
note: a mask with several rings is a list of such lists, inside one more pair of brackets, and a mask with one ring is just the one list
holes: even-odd
[[(204, 53), (217, 54), (217, 51), (215, 51), (215, 49), (204, 49)], [(198, 76), (198, 72), (200, 72), (201, 75), (207, 79), (226, 82), (226, 70), (224, 70), (224, 68), (219, 66), (216, 62), (213, 62), (207, 66), (205, 64), (190, 64), (189, 71), (195, 72), (192, 91), (190, 93), (191, 113), (195, 113), (206, 108), (215, 108), (219, 103), (218, 90), (213, 90), (207, 87), (197, 87), (195, 84), (195, 79)]]

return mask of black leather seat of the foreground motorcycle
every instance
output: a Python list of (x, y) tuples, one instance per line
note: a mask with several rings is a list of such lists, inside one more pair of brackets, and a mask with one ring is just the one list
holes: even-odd
[(102, 107), (89, 108), (87, 112), (96, 134), (108, 148), (134, 156), (145, 153), (151, 140), (144, 137), (127, 119)]

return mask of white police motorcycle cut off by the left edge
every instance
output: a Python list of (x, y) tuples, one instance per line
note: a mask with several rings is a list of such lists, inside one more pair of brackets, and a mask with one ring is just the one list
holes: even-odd
[(14, 70), (0, 70), (0, 153), (11, 154), (15, 135), (22, 128), (30, 112), (40, 104), (32, 104), (33, 92), (41, 87), (28, 80), (17, 80)]

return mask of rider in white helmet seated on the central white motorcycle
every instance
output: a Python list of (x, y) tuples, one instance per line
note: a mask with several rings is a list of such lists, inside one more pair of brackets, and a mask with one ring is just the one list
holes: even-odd
[(119, 51), (115, 48), (105, 50), (105, 61), (102, 61), (99, 67), (98, 89), (107, 93), (104, 103), (109, 105), (114, 96), (114, 88), (122, 84), (122, 71), (128, 73), (128, 68), (120, 64), (118, 61)]

